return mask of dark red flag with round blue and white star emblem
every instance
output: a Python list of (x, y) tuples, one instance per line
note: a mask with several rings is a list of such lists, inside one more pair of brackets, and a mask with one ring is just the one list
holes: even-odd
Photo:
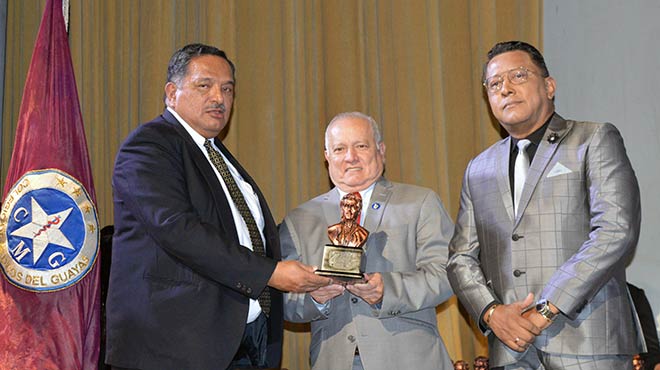
[(0, 210), (1, 369), (97, 368), (95, 198), (62, 0), (48, 0)]

